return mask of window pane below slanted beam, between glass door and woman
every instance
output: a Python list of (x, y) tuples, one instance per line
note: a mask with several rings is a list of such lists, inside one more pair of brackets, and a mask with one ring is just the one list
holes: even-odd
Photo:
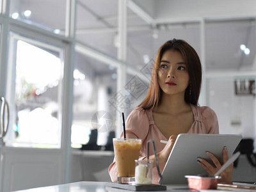
[[(104, 149), (115, 132), (116, 67), (76, 52), (72, 147)], [(121, 98), (120, 98), (121, 99)], [(90, 136), (95, 136), (90, 140)]]

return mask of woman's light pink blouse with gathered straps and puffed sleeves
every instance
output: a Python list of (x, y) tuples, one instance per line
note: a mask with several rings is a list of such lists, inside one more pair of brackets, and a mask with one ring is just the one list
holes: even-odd
[[(203, 134), (218, 134), (219, 125), (216, 113), (209, 107), (199, 107), (190, 105), (194, 115), (193, 124), (191, 125), (188, 133), (203, 133)], [(135, 108), (131, 111), (126, 122), (126, 138), (140, 138), (142, 140), (140, 159), (147, 157), (147, 141), (154, 140), (156, 152), (160, 152), (164, 148), (164, 143), (160, 140), (168, 140), (165, 138), (161, 131), (154, 124), (153, 113), (151, 110), (143, 108)], [(121, 138), (122, 138), (121, 134)], [(149, 155), (154, 154), (152, 144), (150, 143)], [(196, 161), (196, 160), (195, 160)], [(160, 172), (163, 172), (165, 163), (159, 164)], [(112, 182), (117, 181), (115, 159), (109, 166), (109, 175)], [(159, 175), (157, 168), (153, 168), (152, 182), (158, 183)]]

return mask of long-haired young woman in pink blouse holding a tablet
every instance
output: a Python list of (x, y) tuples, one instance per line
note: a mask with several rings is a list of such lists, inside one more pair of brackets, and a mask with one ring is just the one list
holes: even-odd
[[(191, 45), (184, 40), (173, 39), (159, 48), (147, 96), (127, 118), (126, 137), (142, 140), (140, 159), (147, 157), (147, 141), (154, 140), (161, 172), (178, 134), (219, 133), (218, 119), (214, 111), (198, 106), (201, 82), (200, 59)], [(160, 140), (168, 140), (168, 143), (160, 143)], [(210, 175), (214, 175), (221, 164), (214, 154), (207, 152), (207, 156), (215, 166), (202, 158), (195, 161)], [(151, 147), (149, 158), (154, 160)], [(223, 162), (227, 160), (227, 148), (224, 147)], [(221, 182), (232, 182), (232, 169), (231, 165), (221, 173)], [(115, 160), (109, 166), (109, 175), (116, 182)], [(158, 180), (157, 169), (154, 167), (153, 182), (157, 183)]]

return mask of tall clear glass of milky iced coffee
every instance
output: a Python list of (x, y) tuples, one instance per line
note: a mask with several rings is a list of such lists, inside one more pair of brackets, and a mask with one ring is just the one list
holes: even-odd
[(129, 183), (134, 180), (135, 159), (139, 158), (141, 140), (113, 139), (118, 182)]

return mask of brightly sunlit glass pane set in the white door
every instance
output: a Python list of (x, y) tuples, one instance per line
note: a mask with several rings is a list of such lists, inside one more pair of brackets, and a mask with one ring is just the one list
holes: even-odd
[(63, 49), (10, 33), (6, 145), (60, 148)]

